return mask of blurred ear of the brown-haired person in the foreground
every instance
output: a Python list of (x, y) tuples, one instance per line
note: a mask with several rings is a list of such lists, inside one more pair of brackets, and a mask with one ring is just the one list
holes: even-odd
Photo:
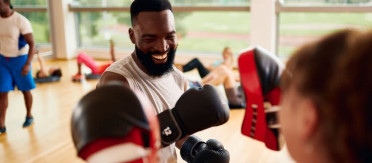
[(303, 106), (303, 112), (301, 114), (301, 125), (303, 127), (302, 134), (305, 139), (311, 139), (311, 137), (313, 137), (316, 132), (319, 115), (316, 105), (312, 100), (306, 100)]

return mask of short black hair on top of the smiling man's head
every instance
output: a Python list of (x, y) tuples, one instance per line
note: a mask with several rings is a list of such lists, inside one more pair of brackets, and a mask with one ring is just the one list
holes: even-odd
[(173, 12), (172, 5), (168, 0), (134, 0), (130, 5), (130, 20), (132, 27), (135, 26), (140, 12), (160, 12), (167, 9)]

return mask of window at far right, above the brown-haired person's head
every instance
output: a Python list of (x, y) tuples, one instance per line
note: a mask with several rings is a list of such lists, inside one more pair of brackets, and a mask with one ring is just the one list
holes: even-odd
[[(282, 1), (282, 7), (279, 8), (279, 55), (291, 55), (304, 43), (336, 30), (371, 28), (372, 13), (366, 12), (368, 9), (362, 11), (359, 7), (371, 5), (372, 0)], [(290, 10), (292, 12), (288, 12)], [(319, 10), (321, 12), (317, 12)]]

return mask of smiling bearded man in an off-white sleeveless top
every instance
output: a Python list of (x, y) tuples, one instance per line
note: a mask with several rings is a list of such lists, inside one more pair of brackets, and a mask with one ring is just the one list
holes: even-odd
[[(130, 15), (132, 28), (128, 33), (135, 50), (108, 67), (97, 87), (121, 81), (125, 86), (143, 92), (153, 104), (155, 113), (159, 114), (174, 108), (188, 85), (184, 74), (173, 65), (178, 44), (172, 6), (168, 0), (134, 0)], [(200, 142), (196, 136), (186, 136), (162, 148), (158, 152), (160, 163), (177, 162), (175, 146), (181, 149), (184, 160), (193, 162), (195, 156), (190, 153), (197, 152), (196, 148), (206, 148), (199, 145)], [(226, 156), (228, 159), (228, 153)], [(218, 157), (203, 155), (203, 158)]]

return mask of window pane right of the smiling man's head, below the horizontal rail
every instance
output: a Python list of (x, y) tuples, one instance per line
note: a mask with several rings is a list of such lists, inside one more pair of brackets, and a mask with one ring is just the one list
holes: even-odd
[(221, 52), (224, 46), (230, 46), (237, 52), (249, 45), (249, 12), (197, 11), (183, 14), (185, 17), (177, 27), (183, 28), (179, 29), (183, 34), (179, 39), (180, 50)]

